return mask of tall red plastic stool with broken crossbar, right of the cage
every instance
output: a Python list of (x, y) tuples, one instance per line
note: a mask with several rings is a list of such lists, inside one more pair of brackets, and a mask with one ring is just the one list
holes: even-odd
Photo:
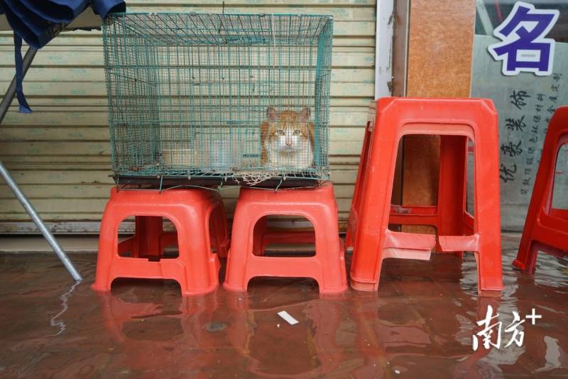
[[(439, 252), (474, 251), (480, 290), (501, 290), (497, 113), (486, 99), (383, 98), (363, 151), (349, 217), (354, 245), (351, 286), (378, 289), (385, 258), (430, 259)], [(396, 153), (409, 134), (441, 135), (438, 205), (391, 206)], [(369, 138), (369, 137), (368, 137)], [(466, 212), (467, 138), (474, 142), (475, 217)], [(391, 231), (388, 224), (437, 227), (429, 234)]]

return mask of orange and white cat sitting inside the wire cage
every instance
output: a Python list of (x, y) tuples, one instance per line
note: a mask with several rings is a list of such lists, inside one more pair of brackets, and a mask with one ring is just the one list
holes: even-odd
[(295, 111), (266, 109), (266, 120), (261, 123), (261, 162), (274, 169), (304, 170), (314, 160), (314, 123), (310, 122), (310, 108)]

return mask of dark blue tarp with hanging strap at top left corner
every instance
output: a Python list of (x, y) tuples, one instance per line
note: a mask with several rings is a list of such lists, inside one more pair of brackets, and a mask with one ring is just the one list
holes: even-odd
[(6, 14), (13, 29), (16, 96), (21, 112), (31, 113), (22, 91), (22, 40), (33, 48), (43, 48), (87, 6), (102, 18), (110, 12), (126, 11), (123, 0), (0, 0), (0, 14)]

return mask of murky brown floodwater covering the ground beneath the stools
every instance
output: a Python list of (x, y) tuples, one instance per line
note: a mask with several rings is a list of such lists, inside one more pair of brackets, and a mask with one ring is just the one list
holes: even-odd
[[(0, 376), (13, 378), (491, 378), (568, 376), (568, 266), (541, 255), (535, 277), (513, 269), (505, 238), (505, 290), (477, 295), (473, 256), (386, 260), (378, 293), (320, 298), (305, 279), (253, 280), (247, 295), (181, 297), (175, 282), (119, 280), (108, 295), (89, 285), (95, 256), (72, 260), (73, 287), (50, 254), (0, 256)], [(348, 257), (348, 261), (349, 261)], [(491, 324), (501, 347), (477, 351)], [(535, 325), (525, 315), (542, 315)], [(287, 311), (298, 324), (276, 314)], [(518, 312), (521, 346), (506, 346)], [(495, 313), (495, 312), (493, 312)], [(494, 314), (493, 314), (494, 315)], [(515, 338), (519, 339), (520, 334)]]

